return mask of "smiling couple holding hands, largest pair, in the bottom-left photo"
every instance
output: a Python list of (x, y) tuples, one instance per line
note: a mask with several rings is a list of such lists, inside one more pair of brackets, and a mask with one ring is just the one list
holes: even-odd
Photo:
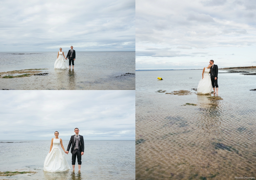
[(44, 171), (63, 172), (70, 169), (61, 148), (66, 154), (69, 153), (69, 149), (71, 148), (73, 171), (75, 171), (76, 158), (78, 162), (78, 170), (80, 171), (82, 164), (81, 157), (84, 154), (84, 138), (83, 136), (79, 135), (79, 129), (75, 128), (75, 135), (71, 136), (67, 151), (64, 149), (62, 139), (59, 138), (59, 132), (55, 131), (54, 135), (55, 138), (51, 139), (50, 152), (44, 161)]

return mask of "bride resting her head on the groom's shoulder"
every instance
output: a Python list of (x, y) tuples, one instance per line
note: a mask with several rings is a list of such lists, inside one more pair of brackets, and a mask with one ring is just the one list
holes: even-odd
[(199, 81), (199, 84), (197, 86), (197, 94), (210, 94), (212, 93), (212, 82), (211, 77), (209, 75), (210, 68), (212, 65), (208, 65), (208, 67), (205, 67), (203, 69), (202, 76), (203, 78)]

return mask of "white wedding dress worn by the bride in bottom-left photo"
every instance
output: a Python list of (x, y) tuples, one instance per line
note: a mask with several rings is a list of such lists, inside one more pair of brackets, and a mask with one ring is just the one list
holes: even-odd
[(69, 169), (69, 164), (60, 146), (59, 138), (53, 138), (51, 152), (48, 153), (44, 161), (44, 171), (63, 172)]

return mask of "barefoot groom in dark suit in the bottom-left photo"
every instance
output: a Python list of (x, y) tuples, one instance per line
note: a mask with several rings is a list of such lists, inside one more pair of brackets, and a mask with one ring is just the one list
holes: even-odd
[[(84, 137), (79, 135), (79, 129), (75, 128), (75, 135), (71, 136), (69, 145), (67, 147), (66, 153), (69, 154), (69, 149), (71, 147), (71, 154), (72, 154), (72, 167), (73, 171), (75, 171), (75, 164), (76, 164), (76, 157), (78, 162), (78, 170), (81, 169), (81, 157), (84, 154)], [(71, 146), (72, 143), (72, 146)]]

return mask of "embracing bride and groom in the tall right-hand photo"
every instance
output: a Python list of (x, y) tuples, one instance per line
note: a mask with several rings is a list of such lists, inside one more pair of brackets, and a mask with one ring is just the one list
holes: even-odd
[[(208, 67), (203, 69), (202, 73), (203, 78), (199, 81), (197, 87), (198, 94), (210, 94), (213, 93), (218, 95), (218, 66), (214, 64), (213, 60), (210, 60)], [(215, 90), (216, 88), (216, 90)]]

